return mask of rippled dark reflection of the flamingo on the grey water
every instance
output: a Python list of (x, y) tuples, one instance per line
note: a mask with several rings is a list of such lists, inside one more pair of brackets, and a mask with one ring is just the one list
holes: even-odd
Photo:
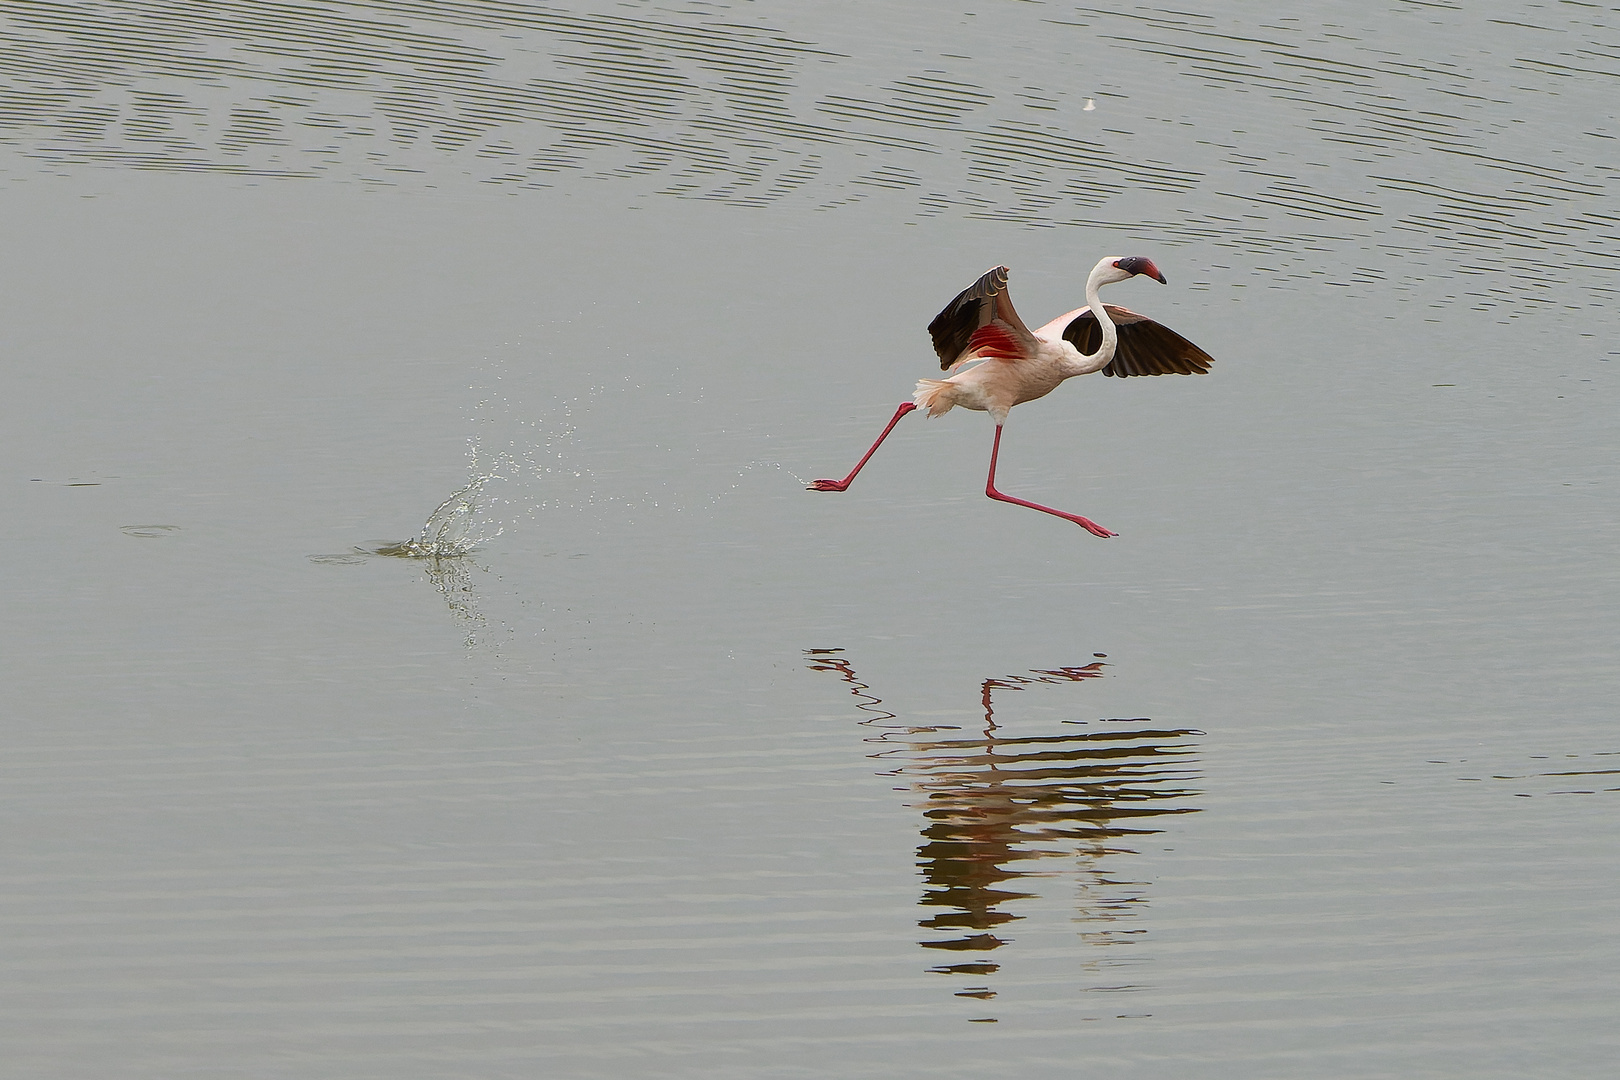
[[(813, 670), (842, 678), (875, 729), (873, 755), (891, 763), (886, 776), (906, 777), (922, 810), (917, 865), (923, 878), (919, 904), (932, 931), (923, 949), (956, 954), (932, 972), (988, 976), (1000, 963), (987, 954), (1009, 944), (1008, 910), (1042, 878), (1079, 884), (1076, 921), (1081, 939), (1118, 944), (1140, 933), (1128, 925), (1145, 902), (1145, 886), (1121, 879), (1118, 858), (1132, 842), (1162, 832), (1153, 819), (1196, 813), (1187, 800), (1196, 779), (1192, 729), (1160, 727), (1147, 717), (1095, 722), (1064, 721), (1056, 733), (1013, 735), (996, 722), (993, 696), (1040, 685), (1082, 683), (1103, 677), (1097, 659), (1076, 667), (1030, 670), (980, 683), (983, 727), (907, 725), (883, 708), (842, 649), (807, 649)], [(1071, 727), (1072, 725), (1072, 727)], [(959, 733), (957, 733), (959, 732)], [(1069, 871), (1050, 860), (1071, 860)], [(1105, 865), (1106, 863), (1106, 865)], [(946, 960), (946, 957), (940, 957)], [(990, 986), (967, 986), (959, 997), (995, 997)]]

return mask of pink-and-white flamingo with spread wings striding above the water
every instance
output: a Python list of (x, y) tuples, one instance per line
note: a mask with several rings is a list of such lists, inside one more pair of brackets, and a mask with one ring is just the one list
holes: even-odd
[(1152, 259), (1142, 256), (1102, 259), (1085, 279), (1085, 306), (1030, 332), (1013, 309), (1008, 269), (998, 266), (988, 270), (928, 324), (933, 351), (940, 353), (940, 368), (953, 374), (946, 379), (919, 379), (914, 400), (901, 402), (889, 426), (855, 461), (849, 476), (812, 481), (810, 491), (846, 491), (894, 431), (894, 424), (914, 408), (927, 408), (928, 416), (943, 416), (961, 405), (990, 413), (996, 421), (996, 440), (990, 447), (990, 479), (985, 481), (987, 495), (1074, 521), (1094, 536), (1118, 536), (1077, 513), (1003, 495), (996, 491), (996, 455), (1001, 452), (1001, 426), (1008, 419), (1008, 411), (1014, 405), (1047, 397), (1072, 376), (1094, 371), (1119, 377), (1209, 372), (1215, 359), (1202, 348), (1147, 316), (1103, 304), (1097, 298), (1097, 290), (1103, 285), (1139, 274), (1160, 285), (1166, 283)]

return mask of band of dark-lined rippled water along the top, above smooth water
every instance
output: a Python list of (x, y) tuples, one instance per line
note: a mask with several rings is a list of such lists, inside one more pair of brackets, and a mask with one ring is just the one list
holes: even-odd
[(1230, 248), (1278, 288), (1607, 304), (1620, 24), (1513, 15), (15, 0), (0, 144), (53, 172), (888, 199)]

